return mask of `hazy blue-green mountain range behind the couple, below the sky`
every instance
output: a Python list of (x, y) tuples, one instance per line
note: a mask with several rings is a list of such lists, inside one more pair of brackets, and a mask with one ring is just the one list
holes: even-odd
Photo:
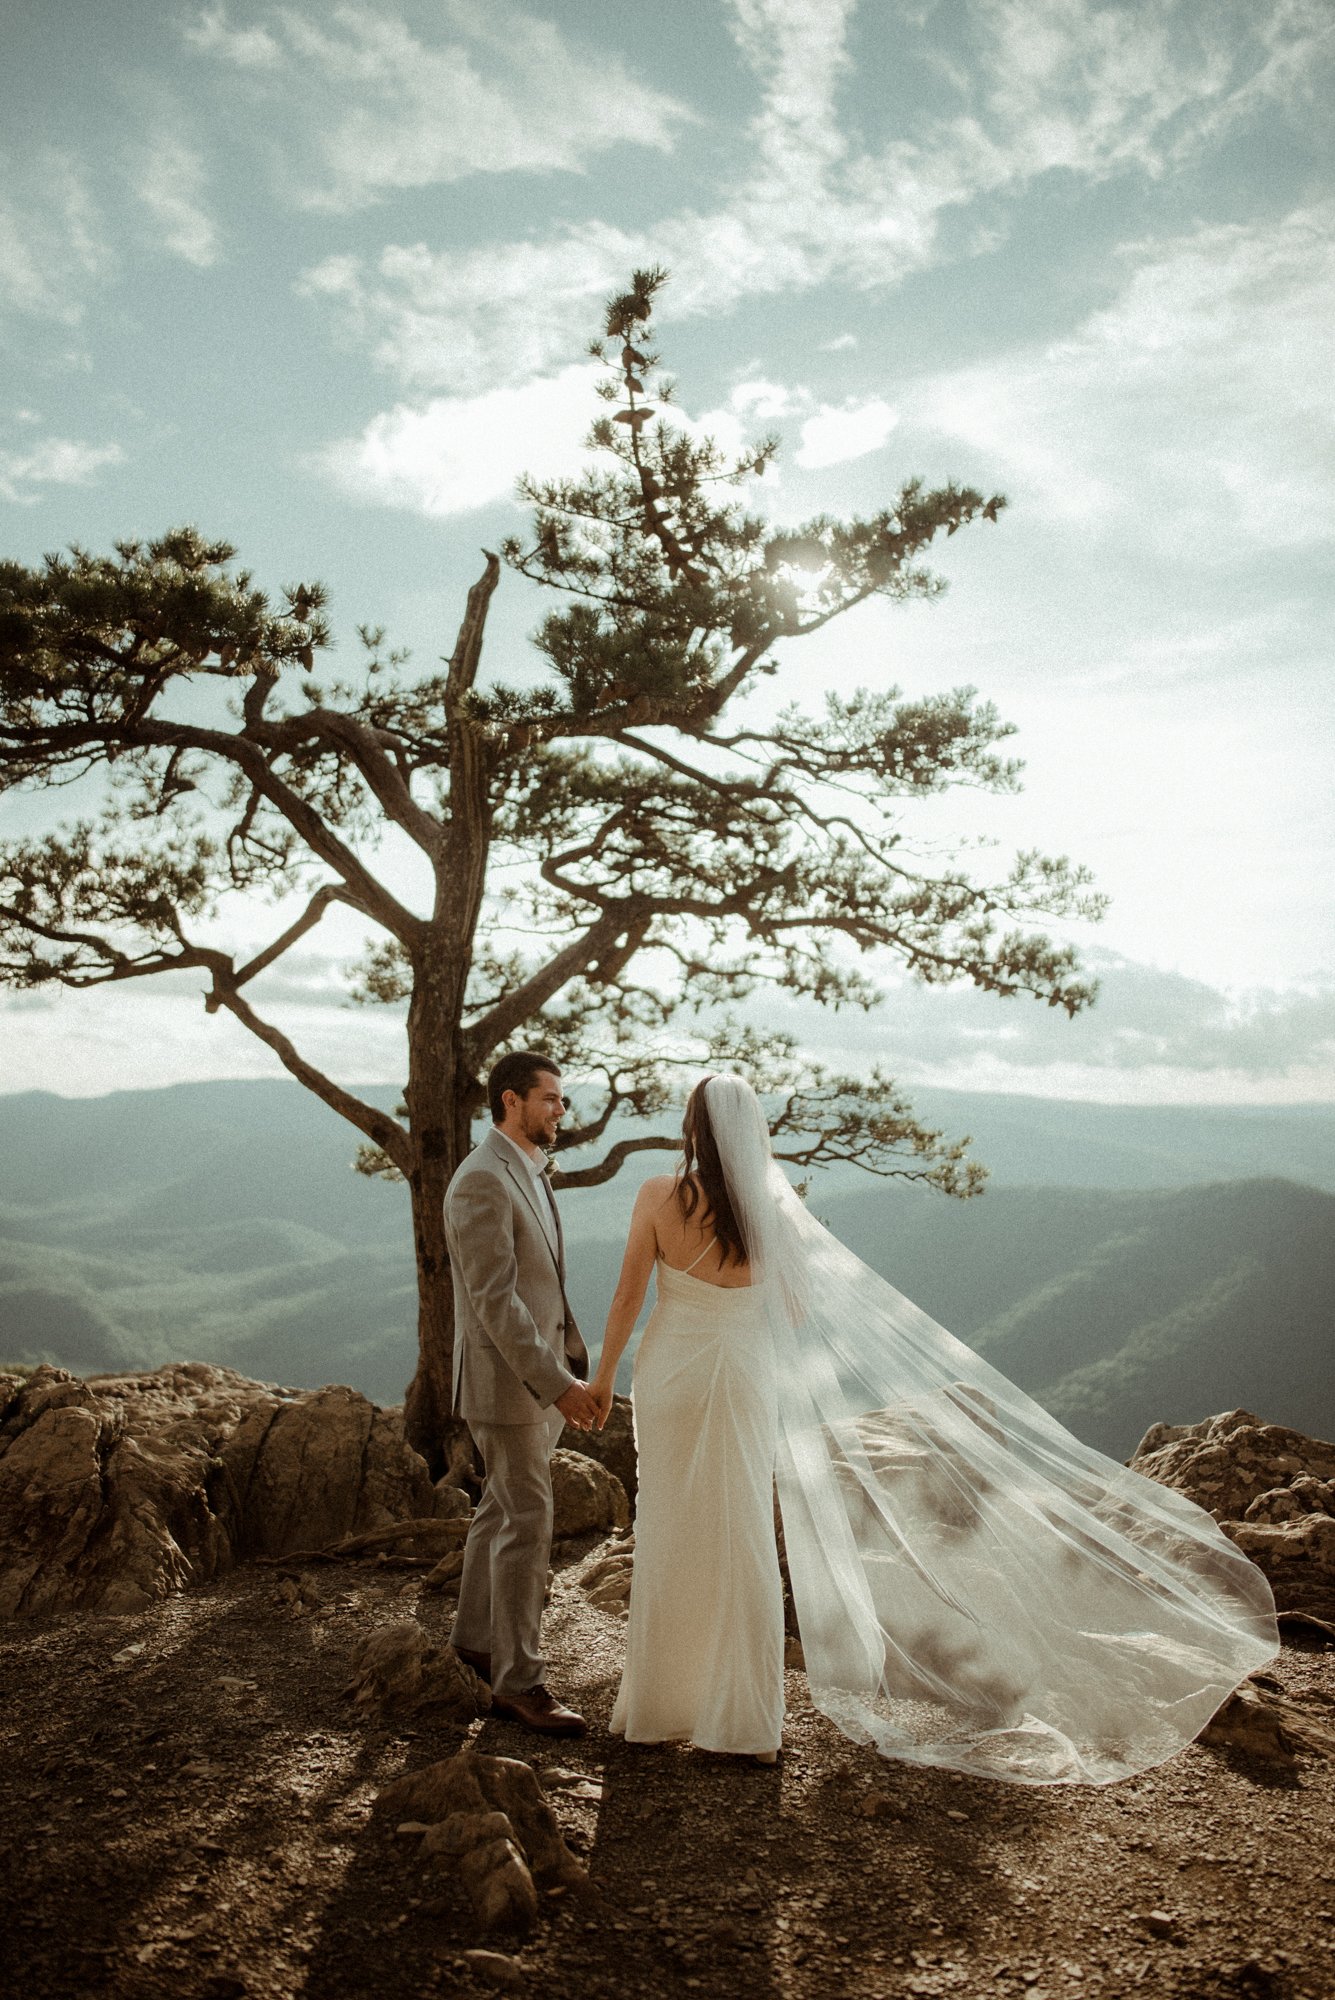
[[(1249, 1404), (1335, 1432), (1335, 1108), (927, 1090), (917, 1108), (973, 1132), (985, 1196), (843, 1168), (815, 1178), (811, 1208), (1071, 1430), (1127, 1456), (1159, 1418)], [(0, 1096), (0, 1360), (200, 1358), (400, 1400), (416, 1338), (408, 1204), (350, 1170), (354, 1144), (288, 1082)], [(594, 1338), (634, 1186), (668, 1158), (562, 1196)]]

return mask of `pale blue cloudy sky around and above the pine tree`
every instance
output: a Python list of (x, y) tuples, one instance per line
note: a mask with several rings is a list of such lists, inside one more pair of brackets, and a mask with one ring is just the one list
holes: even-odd
[[(190, 520), (450, 652), (522, 470), (580, 462), (588, 338), (662, 262), (666, 362), (777, 520), (907, 474), (1009, 506), (933, 604), (779, 652), (783, 696), (977, 686), (1025, 790), (923, 838), (1111, 898), (1075, 1022), (905, 986), (827, 1060), (1111, 1102), (1335, 1100), (1331, 0), (4, 0), (0, 530)], [(538, 674), (508, 576), (496, 676)], [(62, 810), (78, 802), (68, 794)], [(52, 800), (0, 802), (0, 840)], [(915, 808), (917, 812), (917, 808)], [(228, 908), (220, 938), (264, 940)], [(352, 924), (256, 1000), (342, 1080)], [(0, 1090), (274, 1074), (186, 978), (0, 996)]]

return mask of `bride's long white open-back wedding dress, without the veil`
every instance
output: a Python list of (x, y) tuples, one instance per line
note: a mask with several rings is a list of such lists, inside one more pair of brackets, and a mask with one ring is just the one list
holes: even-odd
[(765, 1754), (783, 1728), (769, 1318), (751, 1286), (662, 1258), (656, 1274), (636, 1356), (636, 1568), (612, 1730)]

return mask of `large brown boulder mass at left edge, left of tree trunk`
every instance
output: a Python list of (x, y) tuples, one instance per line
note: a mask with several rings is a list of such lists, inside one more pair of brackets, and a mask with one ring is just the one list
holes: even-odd
[(0, 1380), (0, 1616), (136, 1612), (244, 1556), (450, 1512), (402, 1418), (230, 1368)]

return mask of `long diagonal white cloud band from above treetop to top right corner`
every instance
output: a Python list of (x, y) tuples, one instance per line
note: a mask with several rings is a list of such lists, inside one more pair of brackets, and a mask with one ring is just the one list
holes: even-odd
[[(550, 372), (578, 352), (606, 292), (638, 262), (666, 262), (666, 316), (715, 314), (819, 284), (895, 284), (947, 252), (943, 224), (979, 196), (1051, 172), (1163, 172), (1221, 120), (1249, 116), (1275, 76), (1331, 64), (1313, 0), (979, 0), (971, 62), (949, 64), (957, 106), (923, 110), (879, 150), (853, 144), (837, 90), (851, 0), (733, 0), (733, 34), (759, 106), (727, 200), (648, 228), (562, 226), (544, 240), (434, 252), (390, 246), (304, 280), (336, 298), (378, 362), (422, 388), (474, 392)], [(342, 18), (342, 16), (340, 16)], [(1329, 22), (1327, 22), (1329, 26)], [(935, 14), (903, 22), (931, 42)], [(921, 50), (919, 50), (921, 52)], [(973, 88), (971, 78), (985, 82)], [(961, 232), (977, 250), (995, 218)]]

